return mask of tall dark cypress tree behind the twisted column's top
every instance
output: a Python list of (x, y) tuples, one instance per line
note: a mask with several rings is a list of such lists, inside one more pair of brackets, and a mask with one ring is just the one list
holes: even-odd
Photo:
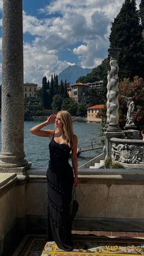
[(125, 0), (120, 12), (112, 23), (110, 48), (121, 48), (118, 59), (119, 77), (144, 77), (144, 45), (142, 26), (135, 0)]

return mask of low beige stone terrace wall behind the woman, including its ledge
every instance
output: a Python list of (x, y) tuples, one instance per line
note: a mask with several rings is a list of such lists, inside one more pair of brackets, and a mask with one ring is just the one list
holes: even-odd
[[(46, 234), (46, 170), (30, 169), (24, 177), (0, 174), (0, 255), (26, 233)], [(143, 169), (79, 172), (73, 229), (144, 232), (143, 185)]]

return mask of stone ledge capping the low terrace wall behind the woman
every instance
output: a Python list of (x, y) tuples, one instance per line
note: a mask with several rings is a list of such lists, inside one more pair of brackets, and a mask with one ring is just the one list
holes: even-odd
[[(81, 184), (144, 184), (144, 169), (83, 169), (79, 171)], [(26, 175), (15, 173), (0, 173), (0, 196), (12, 188), (27, 182), (46, 183), (46, 169), (33, 168)]]

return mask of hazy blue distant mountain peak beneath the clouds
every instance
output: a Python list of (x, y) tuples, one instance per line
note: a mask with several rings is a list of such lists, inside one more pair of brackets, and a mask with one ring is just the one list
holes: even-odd
[(65, 79), (67, 79), (67, 82), (72, 85), (75, 84), (79, 76), (86, 76), (90, 72), (92, 72), (92, 68), (81, 68), (78, 65), (68, 66), (58, 75), (59, 82), (61, 79), (65, 82)]

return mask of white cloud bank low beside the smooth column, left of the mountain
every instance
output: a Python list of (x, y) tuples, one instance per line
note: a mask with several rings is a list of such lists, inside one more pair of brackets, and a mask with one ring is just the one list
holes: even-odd
[(35, 82), (41, 85), (44, 75), (51, 79), (52, 73), (55, 72), (58, 75), (68, 65), (73, 63), (60, 61), (56, 50), (24, 43), (24, 82)]

